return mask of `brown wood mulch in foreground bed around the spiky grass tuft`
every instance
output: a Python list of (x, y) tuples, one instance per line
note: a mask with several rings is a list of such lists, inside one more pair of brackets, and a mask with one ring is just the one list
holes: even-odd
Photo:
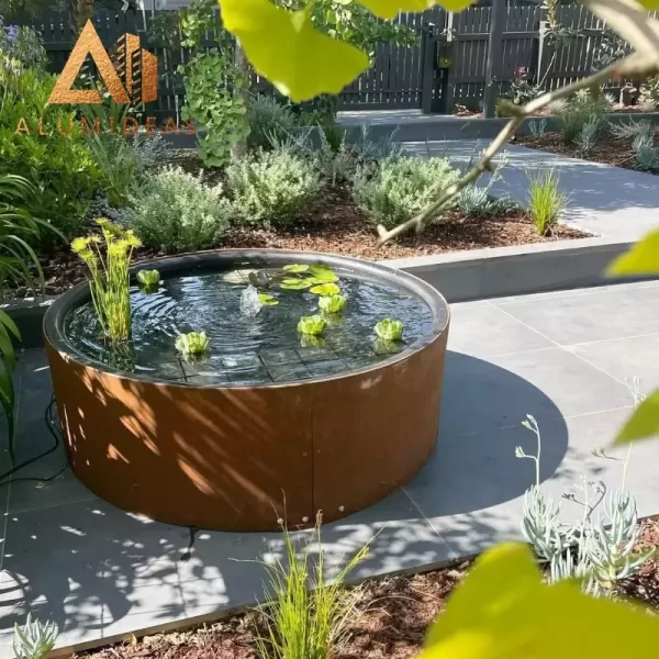
[[(659, 547), (659, 522), (646, 520), (638, 549)], [(372, 579), (360, 587), (346, 643), (335, 659), (410, 659), (418, 655), (428, 625), (467, 573), (469, 561), (407, 577)], [(622, 595), (659, 607), (659, 561), (650, 559)], [(227, 621), (155, 634), (78, 655), (80, 659), (256, 659), (259, 615), (249, 611)], [(263, 632), (261, 632), (263, 633)]]

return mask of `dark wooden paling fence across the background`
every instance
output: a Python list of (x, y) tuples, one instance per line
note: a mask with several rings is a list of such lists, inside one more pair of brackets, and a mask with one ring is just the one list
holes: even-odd
[[(417, 32), (418, 47), (379, 44), (373, 66), (342, 92), (340, 108), (423, 109), (424, 112), (443, 113), (453, 112), (457, 104), (481, 108), (492, 11), (490, 7), (470, 7), (454, 14), (436, 7), (422, 14), (402, 13), (396, 20)], [(507, 90), (520, 67), (528, 69), (547, 89), (593, 70), (604, 24), (582, 4), (559, 8), (558, 19), (572, 34), (558, 46), (552, 46), (546, 37), (544, 8), (505, 7), (502, 11), (505, 15), (492, 35), (498, 40), (494, 52), (500, 53), (493, 63), (498, 93)], [(163, 25), (175, 24), (175, 21), (167, 21), (167, 16), (171, 19), (171, 12), (101, 10), (93, 18), (107, 47), (130, 32), (141, 35), (143, 46), (157, 55), (159, 99), (157, 107), (149, 109), (149, 114), (175, 114), (185, 102), (177, 67), (186, 60), (188, 53), (163, 40)], [(71, 16), (51, 13), (23, 24), (31, 24), (42, 34), (51, 68), (59, 72), (76, 40)], [(155, 32), (160, 37), (154, 36)]]

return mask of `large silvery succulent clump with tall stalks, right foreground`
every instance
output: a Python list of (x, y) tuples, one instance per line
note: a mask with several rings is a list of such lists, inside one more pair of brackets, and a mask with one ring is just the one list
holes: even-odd
[[(643, 398), (635, 381), (634, 398), (638, 404)], [(622, 485), (611, 493), (601, 481), (581, 479), (578, 500), (574, 494), (563, 498), (583, 506), (581, 520), (574, 524), (560, 521), (560, 504), (540, 488), (541, 437), (537, 422), (527, 415), (523, 425), (530, 429), (537, 439), (537, 453), (526, 454), (522, 447), (515, 449), (517, 458), (527, 458), (535, 465), (535, 484), (524, 496), (522, 532), (533, 546), (538, 558), (548, 567), (547, 578), (551, 583), (563, 579), (579, 579), (584, 592), (595, 596), (615, 596), (617, 582), (635, 574), (654, 551), (636, 552), (640, 539), (636, 501), (626, 491), (626, 474), (630, 447), (623, 463)], [(603, 451), (594, 455), (610, 456)], [(602, 505), (603, 513), (595, 515)]]

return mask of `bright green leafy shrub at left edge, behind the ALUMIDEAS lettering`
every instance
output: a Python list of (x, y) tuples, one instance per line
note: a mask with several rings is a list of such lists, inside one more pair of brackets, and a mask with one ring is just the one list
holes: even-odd
[[(35, 194), (26, 210), (70, 239), (78, 233), (101, 174), (75, 113), (64, 105), (47, 105), (54, 86), (55, 76), (37, 70), (0, 77), (0, 174), (30, 181)], [(38, 134), (42, 116), (47, 137)], [(19, 125), (30, 133), (16, 132)], [(71, 133), (60, 134), (58, 125), (65, 133), (72, 129)], [(42, 232), (38, 244), (48, 247), (55, 235)]]

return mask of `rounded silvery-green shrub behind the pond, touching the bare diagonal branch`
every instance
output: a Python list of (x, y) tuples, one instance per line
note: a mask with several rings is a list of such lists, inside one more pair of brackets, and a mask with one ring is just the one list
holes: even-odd
[(459, 176), (445, 158), (387, 158), (358, 168), (353, 196), (373, 222), (393, 228), (435, 201)]

